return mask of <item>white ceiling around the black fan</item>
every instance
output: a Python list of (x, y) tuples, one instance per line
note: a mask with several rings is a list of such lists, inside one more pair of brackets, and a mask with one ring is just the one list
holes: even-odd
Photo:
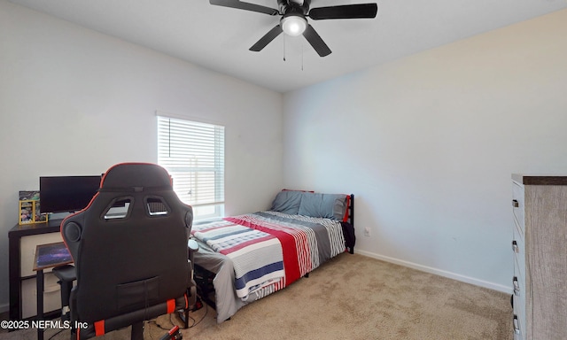
[[(310, 20), (332, 50), (321, 58), (302, 36), (249, 51), (279, 17), (208, 0), (10, 1), (279, 92), (567, 8), (567, 0), (377, 0), (376, 19)], [(311, 8), (371, 2), (312, 0)]]

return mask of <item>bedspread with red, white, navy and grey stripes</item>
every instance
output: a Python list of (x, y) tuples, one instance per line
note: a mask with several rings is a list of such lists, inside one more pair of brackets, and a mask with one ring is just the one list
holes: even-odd
[(233, 261), (237, 296), (263, 297), (345, 251), (337, 220), (250, 213), (193, 226), (191, 234)]

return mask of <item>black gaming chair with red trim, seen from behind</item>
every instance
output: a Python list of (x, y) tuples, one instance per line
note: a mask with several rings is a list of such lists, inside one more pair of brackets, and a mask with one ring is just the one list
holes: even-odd
[(189, 311), (195, 283), (188, 260), (193, 211), (154, 164), (111, 167), (89, 206), (61, 223), (73, 256), (72, 338), (86, 339), (132, 325), (143, 339), (144, 321)]

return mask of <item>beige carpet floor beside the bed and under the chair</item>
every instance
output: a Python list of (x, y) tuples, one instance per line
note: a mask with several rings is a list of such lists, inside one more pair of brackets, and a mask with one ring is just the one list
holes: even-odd
[[(509, 295), (358, 254), (341, 254), (309, 277), (246, 305), (217, 324), (214, 309), (191, 313), (183, 338), (511, 340)], [(146, 322), (145, 339), (159, 339), (175, 316)], [(121, 329), (97, 339), (126, 339)], [(69, 331), (45, 332), (68, 339)], [(1, 333), (1, 340), (35, 338), (35, 329)]]

